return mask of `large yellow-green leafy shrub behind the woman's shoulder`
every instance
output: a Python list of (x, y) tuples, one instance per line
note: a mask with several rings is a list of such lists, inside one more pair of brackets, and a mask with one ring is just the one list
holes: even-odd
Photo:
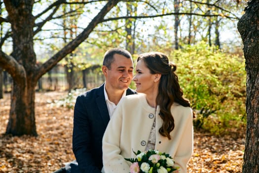
[(220, 135), (246, 124), (243, 58), (205, 43), (186, 45), (169, 57), (177, 65), (180, 86), (197, 114), (195, 128)]

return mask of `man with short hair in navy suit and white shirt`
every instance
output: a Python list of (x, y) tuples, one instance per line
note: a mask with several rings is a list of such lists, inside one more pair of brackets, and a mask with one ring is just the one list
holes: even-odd
[(110, 117), (123, 96), (136, 93), (129, 88), (133, 61), (127, 50), (108, 50), (104, 54), (102, 72), (105, 83), (79, 95), (75, 104), (73, 152), (78, 166), (70, 164), (71, 172), (79, 169), (82, 173), (101, 173), (102, 137)]

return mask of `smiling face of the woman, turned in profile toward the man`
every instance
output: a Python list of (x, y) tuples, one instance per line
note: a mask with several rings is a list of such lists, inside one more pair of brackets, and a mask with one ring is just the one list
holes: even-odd
[(136, 84), (136, 91), (145, 94), (156, 93), (158, 83), (155, 82), (156, 74), (151, 74), (143, 60), (139, 60), (135, 68), (133, 81)]

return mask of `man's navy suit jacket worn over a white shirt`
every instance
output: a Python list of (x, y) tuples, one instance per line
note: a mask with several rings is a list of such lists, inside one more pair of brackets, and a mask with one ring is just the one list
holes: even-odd
[[(128, 88), (126, 95), (136, 91)], [(100, 173), (102, 137), (110, 120), (104, 84), (79, 95), (74, 108), (73, 152), (83, 173)]]

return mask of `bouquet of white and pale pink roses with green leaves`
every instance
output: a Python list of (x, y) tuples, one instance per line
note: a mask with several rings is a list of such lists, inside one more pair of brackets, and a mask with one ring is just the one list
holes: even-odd
[[(134, 152), (134, 151), (133, 151)], [(131, 162), (130, 173), (178, 173), (173, 158), (157, 150), (134, 152), (136, 158), (125, 158)]]

